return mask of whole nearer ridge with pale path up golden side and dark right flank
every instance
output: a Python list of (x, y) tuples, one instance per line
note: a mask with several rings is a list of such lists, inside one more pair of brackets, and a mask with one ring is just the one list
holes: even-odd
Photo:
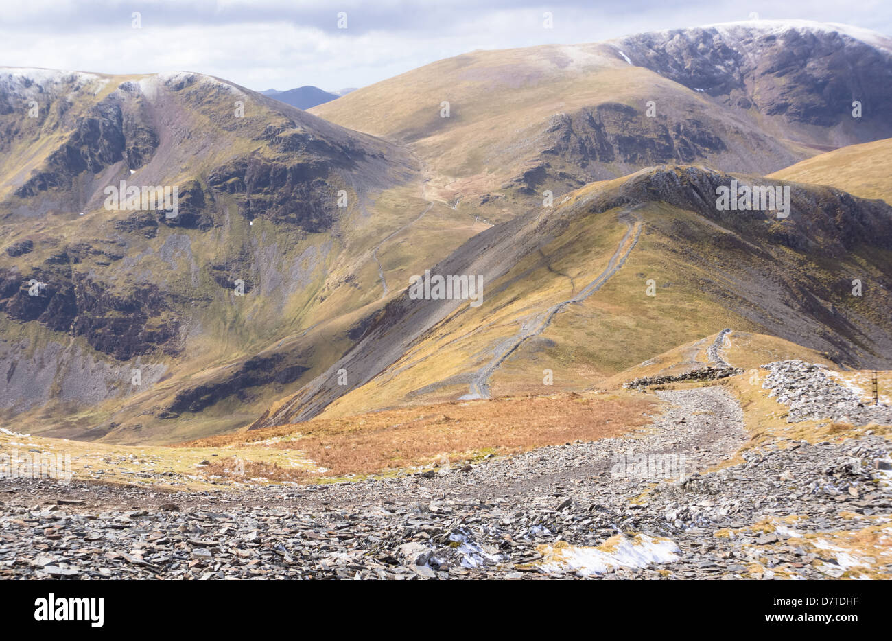
[[(892, 210), (792, 185), (786, 220), (716, 211), (709, 195), (731, 178), (642, 171), (484, 231), (434, 270), (483, 274), (483, 304), (393, 301), (335, 365), (348, 385), (326, 372), (257, 425), (589, 388), (726, 327), (847, 365), (888, 363)], [(852, 279), (863, 296), (852, 296)]]

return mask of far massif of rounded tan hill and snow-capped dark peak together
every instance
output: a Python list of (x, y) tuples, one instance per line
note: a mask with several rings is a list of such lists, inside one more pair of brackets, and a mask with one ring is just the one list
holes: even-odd
[(655, 164), (764, 174), (890, 137), (890, 52), (886, 37), (809, 21), (673, 29), (475, 51), (312, 112), (409, 145), (443, 200), (502, 221), (545, 190)]

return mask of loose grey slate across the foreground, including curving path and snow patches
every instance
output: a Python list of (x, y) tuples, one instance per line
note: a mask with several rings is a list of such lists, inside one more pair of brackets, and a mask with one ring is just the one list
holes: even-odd
[(0, 578), (892, 574), (881, 554), (803, 538), (888, 520), (887, 441), (789, 444), (707, 472), (745, 441), (738, 405), (722, 387), (659, 395), (666, 412), (635, 434), (428, 475), (216, 495), (0, 480)]

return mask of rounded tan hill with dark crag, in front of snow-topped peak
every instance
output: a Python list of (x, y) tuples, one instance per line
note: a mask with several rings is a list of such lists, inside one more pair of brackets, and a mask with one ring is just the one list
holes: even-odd
[[(648, 118), (656, 96), (659, 112)], [(445, 201), (482, 203), (493, 220), (516, 213), (518, 191), (562, 194), (656, 162), (708, 158), (735, 171), (767, 171), (765, 158), (803, 157), (708, 96), (632, 67), (602, 45), (477, 51), (311, 111), (409, 143)]]

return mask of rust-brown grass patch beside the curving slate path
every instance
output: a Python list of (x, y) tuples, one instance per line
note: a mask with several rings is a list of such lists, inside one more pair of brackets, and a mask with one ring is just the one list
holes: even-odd
[[(327, 475), (336, 477), (467, 461), (488, 453), (512, 454), (577, 439), (615, 437), (647, 424), (645, 413), (654, 409), (654, 401), (631, 393), (456, 401), (310, 420), (204, 438), (182, 446), (264, 445), (300, 450), (325, 467)], [(245, 463), (246, 470), (250, 464)], [(309, 471), (294, 473), (303, 478), (310, 475)], [(268, 477), (268, 473), (259, 472), (258, 476)]]

